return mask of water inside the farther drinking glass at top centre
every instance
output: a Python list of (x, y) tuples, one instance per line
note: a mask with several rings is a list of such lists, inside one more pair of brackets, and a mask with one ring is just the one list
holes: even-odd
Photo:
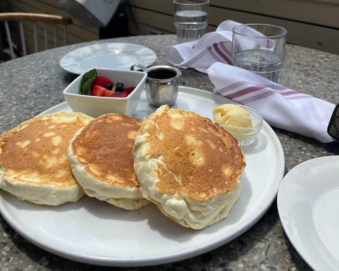
[(174, 15), (174, 24), (179, 43), (197, 40), (206, 33), (208, 15), (198, 10), (177, 11)]

